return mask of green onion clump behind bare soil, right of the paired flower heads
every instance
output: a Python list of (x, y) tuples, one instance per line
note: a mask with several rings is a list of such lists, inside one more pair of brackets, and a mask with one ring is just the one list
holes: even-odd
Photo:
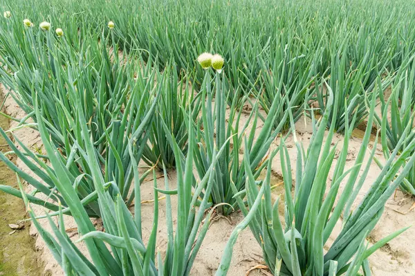
[[(262, 109), (267, 114), (275, 100), (284, 102), (279, 110), (277, 124), (290, 110), (296, 122), (303, 114), (304, 107), (313, 96), (311, 84), (315, 82), (315, 60), (320, 57), (316, 51), (313, 55), (304, 55), (304, 48), (297, 45), (294, 38), (288, 41), (279, 35), (277, 45), (270, 46), (275, 50), (257, 57), (257, 66), (261, 68), (258, 80), (252, 84), (254, 95), (257, 95)], [(285, 45), (285, 47), (284, 47)], [(286, 99), (286, 100), (284, 100)], [(284, 130), (289, 128), (287, 123)]]

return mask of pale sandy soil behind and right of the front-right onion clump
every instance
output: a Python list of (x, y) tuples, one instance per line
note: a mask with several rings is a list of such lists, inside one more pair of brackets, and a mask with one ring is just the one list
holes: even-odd
[[(306, 121), (308, 122), (305, 124), (304, 120), (299, 120), (296, 124), (297, 139), (303, 143), (304, 147), (308, 147), (312, 134), (311, 122), (309, 122), (309, 120)], [(335, 134), (332, 144), (334, 145), (335, 142), (339, 142), (338, 147), (341, 147), (343, 140), (344, 137), (342, 135)], [(286, 144), (288, 145), (288, 152), (291, 156), (291, 162), (293, 163), (293, 161), (296, 160), (296, 149), (295, 147), (290, 146), (294, 145), (292, 137), (286, 140)], [(347, 156), (347, 165), (345, 169), (353, 167), (355, 158), (360, 149), (360, 144), (360, 138), (351, 138), (349, 142), (349, 153)], [(370, 147), (373, 149), (373, 144), (369, 145), (369, 148)], [(385, 163), (385, 158), (383, 158), (380, 145), (377, 147), (375, 156), (380, 160), (380, 162)], [(360, 169), (360, 173), (362, 173), (365, 169), (365, 162), (367, 162), (368, 158), (369, 152), (367, 152), (365, 156), (365, 160), (362, 168)], [(293, 167), (293, 175), (295, 174), (294, 169), (295, 167)], [(334, 167), (331, 169), (331, 174), (333, 174), (333, 169)], [(281, 173), (280, 163), (277, 158), (273, 163), (273, 170), (277, 173)], [(360, 203), (366, 192), (369, 190), (371, 183), (376, 180), (379, 173), (379, 167), (376, 165), (376, 163), (373, 162), (369, 169), (369, 174), (365, 180), (365, 183), (362, 186), (362, 190), (360, 190), (360, 193), (358, 194), (352, 208), (356, 208), (358, 203)], [(341, 185), (339, 194), (342, 192), (343, 188), (344, 186)], [(376, 242), (382, 239), (382, 237), (386, 237), (387, 234), (391, 234), (392, 232), (407, 226), (412, 226), (415, 223), (415, 211), (407, 211), (414, 203), (415, 201), (411, 196), (397, 191), (396, 194), (391, 196), (391, 198), (387, 201), (385, 212), (382, 214), (382, 218), (378, 222), (376, 228), (369, 234), (369, 240), (371, 242)], [(379, 276), (415, 275), (415, 252), (412, 250), (411, 246), (414, 234), (415, 228), (409, 228), (407, 231), (403, 232), (403, 234), (400, 234), (400, 236), (396, 237), (396, 239), (393, 239), (387, 245), (375, 252), (374, 255), (369, 257), (373, 274)]]

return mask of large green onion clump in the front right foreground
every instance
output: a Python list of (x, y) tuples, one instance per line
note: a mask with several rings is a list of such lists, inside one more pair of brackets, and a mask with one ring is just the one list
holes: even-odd
[[(367, 127), (365, 137), (362, 140), (362, 147), (360, 147), (353, 167), (346, 170), (344, 167), (352, 131), (348, 127), (349, 124), (346, 124), (345, 137), (337, 161), (335, 154), (338, 145), (331, 145), (333, 125), (324, 140), (332, 107), (334, 114), (336, 114), (336, 107), (333, 106), (333, 94), (329, 86), (328, 89), (327, 109), (316, 126), (308, 149), (304, 151), (299, 142), (296, 142), (298, 153), (295, 164), (295, 187), (292, 183), (292, 164), (284, 140), (277, 149), (284, 177), (284, 216), (279, 214), (279, 205), (282, 204), (279, 199), (275, 202), (271, 199), (270, 164), (272, 158), (270, 158), (267, 176), (260, 190), (253, 175), (248, 174), (246, 182), (248, 206), (241, 197), (238, 199), (239, 208), (246, 218), (232, 233), (216, 275), (226, 275), (232, 256), (232, 246), (239, 232), (246, 226), (250, 226), (250, 230), (261, 245), (270, 272), (273, 275), (295, 276), (357, 275), (360, 268), (365, 275), (370, 275), (367, 258), (407, 229), (398, 230), (373, 246), (369, 246), (366, 241), (368, 234), (378, 223), (387, 199), (394, 193), (396, 187), (414, 164), (415, 156), (411, 153), (415, 147), (415, 140), (407, 144), (400, 156), (396, 155), (397, 150), (391, 154), (391, 158), (387, 160), (387, 164), (378, 178), (371, 183), (369, 192), (356, 209), (351, 210), (351, 206), (365, 182), (376, 152), (377, 139), (374, 148), (369, 153), (369, 161), (363, 165), (362, 161), (371, 135), (371, 123), (374, 120), (376, 93), (372, 95), (368, 119), (369, 127)], [(334, 122), (335, 117), (333, 119)], [(348, 122), (347, 117), (346, 122)], [(294, 131), (293, 129), (293, 135), (295, 135)], [(399, 143), (402, 144), (403, 140), (405, 138)], [(277, 151), (272, 156), (275, 156)], [(249, 156), (248, 151), (246, 156)], [(406, 158), (409, 158), (407, 163), (405, 163)], [(246, 158), (246, 167), (250, 167), (248, 160)], [(332, 167), (334, 167), (334, 173), (330, 177), (329, 172)], [(363, 173), (359, 176), (362, 167), (364, 167)], [(396, 176), (397, 174), (398, 176)], [(345, 185), (339, 194), (342, 182)], [(343, 217), (341, 217), (342, 215)], [(341, 218), (340, 232), (334, 232), (333, 230)]]

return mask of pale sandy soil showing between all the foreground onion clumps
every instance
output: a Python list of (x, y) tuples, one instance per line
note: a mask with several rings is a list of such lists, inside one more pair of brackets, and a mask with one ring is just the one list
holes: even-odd
[[(6, 111), (11, 115), (17, 118), (24, 117), (23, 111), (19, 109), (17, 104), (9, 98), (6, 102)], [(248, 118), (248, 114), (243, 114), (243, 118)], [(243, 122), (241, 122), (243, 123)], [(13, 124), (12, 126), (13, 127)], [(304, 147), (308, 147), (309, 140), (311, 138), (311, 122), (309, 120), (300, 119), (299, 122), (296, 124), (297, 127), (297, 139), (302, 141)], [(258, 129), (261, 128), (259, 125)], [(19, 131), (15, 131), (15, 135), (21, 139), (23, 142), (26, 143), (29, 147), (34, 147), (37, 145), (38, 147), (41, 146), (39, 134), (33, 129), (20, 129)], [(336, 134), (333, 138), (333, 142), (341, 141), (343, 137), (341, 135)], [(288, 146), (289, 155), (291, 158), (291, 162), (293, 164), (293, 175), (295, 175), (295, 160), (296, 160), (296, 149), (294, 147), (293, 137), (289, 137), (286, 140), (286, 144)], [(275, 141), (272, 148), (278, 146), (278, 141)], [(271, 148), (271, 149), (272, 149)], [(348, 163), (347, 167), (353, 165), (353, 160), (356, 157), (358, 150), (360, 149), (360, 139), (359, 138), (352, 138), (350, 145), (349, 145), (349, 156), (348, 156)], [(380, 160), (383, 160), (382, 152), (380, 151), (380, 147), (378, 148), (378, 152), (376, 153), (376, 157)], [(26, 170), (26, 172), (30, 172), (27, 167), (24, 166), (21, 162), (18, 161), (17, 165), (19, 167)], [(273, 171), (276, 175), (281, 175), (281, 167), (278, 158), (275, 158), (273, 163)], [(362, 191), (358, 195), (357, 202), (362, 199), (365, 192), (370, 187), (370, 184), (376, 179), (376, 176), (380, 172), (377, 165), (373, 163), (371, 165), (371, 169), (367, 180), (365, 181), (364, 186), (362, 187)], [(175, 172), (171, 172), (169, 174), (169, 183), (173, 186), (176, 182), (176, 174)], [(163, 187), (163, 178), (158, 179), (158, 183)], [(142, 185), (142, 200), (145, 201), (153, 199), (153, 189), (152, 189), (152, 181), (149, 180)], [(172, 205), (175, 205), (174, 196), (172, 196)], [(414, 210), (411, 212), (407, 212), (404, 214), (409, 208), (414, 204), (414, 200), (409, 197), (405, 196), (404, 194), (397, 192), (396, 196), (389, 199), (387, 202), (387, 206), (385, 208), (385, 213), (382, 216), (380, 223), (376, 226), (376, 229), (371, 232), (370, 234), (370, 241), (375, 242), (385, 237), (387, 234), (394, 232), (400, 228), (405, 226), (410, 226), (415, 222), (415, 215)], [(42, 214), (44, 210), (42, 207), (33, 205), (33, 208), (37, 214)], [(142, 207), (142, 216), (143, 216), (143, 235), (144, 239), (148, 239), (149, 232), (151, 230), (151, 223), (153, 219), (153, 203), (145, 203)], [(159, 205), (159, 228), (158, 228), (158, 248), (164, 248), (166, 243), (166, 226), (163, 221), (165, 221), (165, 203), (160, 201)], [(228, 237), (230, 237), (230, 233), (232, 232), (234, 226), (237, 225), (239, 221), (241, 221), (242, 216), (240, 212), (236, 212), (230, 216), (230, 221), (225, 219), (219, 219), (212, 223), (210, 226), (210, 230), (208, 231), (205, 240), (203, 241), (203, 246), (199, 251), (199, 255), (196, 258), (192, 269), (192, 275), (214, 275), (214, 272), (219, 265), (219, 261), (221, 259), (221, 255), (223, 252), (223, 248), (225, 247), (226, 242), (228, 241)], [(42, 226), (44, 228), (49, 229), (48, 223), (45, 220), (42, 220)], [(75, 223), (71, 217), (65, 218), (66, 228), (71, 230), (75, 228)], [(99, 223), (98, 223), (99, 224)], [(99, 228), (99, 225), (98, 225)], [(220, 233), (220, 234), (218, 234)], [(30, 234), (33, 236), (37, 236), (37, 231), (35, 230), (34, 226), (30, 229)], [(77, 239), (77, 232), (76, 230), (71, 232), (70, 234), (71, 239)], [(376, 252), (374, 255), (370, 257), (371, 261), (371, 268), (373, 270), (373, 274), (376, 276), (383, 276), (383, 275), (391, 275), (391, 276), (398, 276), (398, 275), (415, 275), (414, 264), (415, 264), (415, 251), (412, 249), (412, 239), (415, 237), (415, 228), (410, 228), (403, 234), (401, 234), (396, 239), (392, 240), (387, 246), (384, 246), (381, 250)], [(44, 241), (42, 239), (37, 239), (36, 246), (39, 250), (44, 250), (42, 253), (42, 259), (44, 260), (45, 269), (44, 275), (63, 275), (62, 270), (57, 266), (56, 261), (53, 259), (48, 249), (45, 248)], [(85, 250), (85, 248), (80, 248), (81, 250)], [(162, 250), (162, 249), (160, 249)], [(163, 254), (163, 250), (162, 250)], [(232, 258), (231, 269), (228, 275), (245, 275), (246, 272), (252, 267), (262, 262), (261, 257), (261, 248), (255, 241), (255, 238), (250, 233), (249, 229), (244, 230), (241, 232), (237, 244), (234, 248), (234, 256)], [(256, 270), (250, 275), (264, 275), (259, 270)]]

